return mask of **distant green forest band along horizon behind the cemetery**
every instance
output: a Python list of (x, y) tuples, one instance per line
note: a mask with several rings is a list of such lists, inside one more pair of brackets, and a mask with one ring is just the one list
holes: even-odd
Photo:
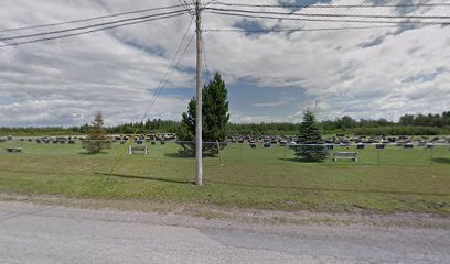
[[(106, 128), (109, 134), (141, 134), (149, 133), (176, 133), (180, 121), (153, 119), (141, 122), (124, 123)], [(89, 124), (72, 128), (0, 128), (0, 136), (6, 135), (75, 135), (86, 134)], [(335, 120), (319, 122), (319, 128), (324, 134), (349, 135), (450, 135), (450, 111), (441, 114), (405, 114), (398, 122), (386, 119), (355, 120), (349, 116)], [(296, 135), (299, 123), (262, 122), (262, 123), (228, 123), (227, 134), (254, 135)]]

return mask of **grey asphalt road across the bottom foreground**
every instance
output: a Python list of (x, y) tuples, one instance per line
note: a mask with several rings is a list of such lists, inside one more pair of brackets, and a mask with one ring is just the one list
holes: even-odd
[(0, 202), (0, 263), (450, 263), (443, 229), (176, 218)]

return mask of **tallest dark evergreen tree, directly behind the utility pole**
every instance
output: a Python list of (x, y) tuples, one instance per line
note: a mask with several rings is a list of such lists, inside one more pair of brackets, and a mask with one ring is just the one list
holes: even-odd
[[(217, 154), (217, 145), (214, 142), (223, 142), (226, 139), (226, 125), (229, 121), (228, 95), (224, 80), (217, 73), (214, 79), (203, 89), (203, 145), (204, 155), (213, 156)], [(182, 150), (181, 154), (186, 156), (195, 155), (195, 122), (196, 122), (196, 100), (193, 98), (188, 106), (188, 112), (182, 116), (181, 128), (178, 131)]]

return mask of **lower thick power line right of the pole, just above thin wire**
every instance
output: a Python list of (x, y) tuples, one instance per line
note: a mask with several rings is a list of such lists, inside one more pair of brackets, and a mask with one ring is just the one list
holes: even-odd
[(219, 12), (219, 11), (205, 11), (207, 13), (227, 15), (227, 16), (240, 16), (249, 19), (270, 19), (270, 20), (289, 20), (289, 21), (311, 21), (311, 22), (342, 22), (342, 23), (372, 23), (372, 24), (413, 24), (413, 25), (449, 25), (449, 22), (430, 22), (430, 21), (386, 21), (386, 20), (340, 20), (340, 19), (307, 19), (307, 18), (290, 18), (290, 16), (272, 16), (272, 15), (258, 15), (258, 14), (247, 14), (243, 13), (231, 13), (231, 12)]

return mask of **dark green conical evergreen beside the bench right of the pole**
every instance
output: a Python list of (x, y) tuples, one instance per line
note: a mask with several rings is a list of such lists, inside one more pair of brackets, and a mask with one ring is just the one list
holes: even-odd
[(320, 145), (323, 144), (322, 134), (315, 122), (314, 114), (309, 109), (304, 112), (303, 122), (300, 124), (298, 143), (300, 144), (296, 147), (298, 158), (306, 162), (322, 162), (326, 158), (326, 147)]

